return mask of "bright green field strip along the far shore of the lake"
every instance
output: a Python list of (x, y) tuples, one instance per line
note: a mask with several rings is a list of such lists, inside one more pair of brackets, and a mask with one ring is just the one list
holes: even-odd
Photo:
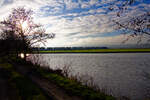
[(89, 50), (54, 50), (39, 51), (40, 53), (136, 53), (150, 52), (149, 49), (89, 49)]

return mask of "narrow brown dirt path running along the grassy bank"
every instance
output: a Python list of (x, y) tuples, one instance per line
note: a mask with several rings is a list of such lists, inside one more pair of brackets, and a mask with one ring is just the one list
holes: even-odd
[(54, 100), (81, 100), (81, 98), (77, 96), (68, 95), (63, 89), (59, 88), (54, 83), (51, 83), (47, 79), (30, 73), (30, 71), (28, 71), (26, 67), (27, 66), (23, 66), (23, 65), (15, 65), (15, 68), (18, 72), (20, 72), (21, 74), (27, 75), (49, 97), (52, 97)]

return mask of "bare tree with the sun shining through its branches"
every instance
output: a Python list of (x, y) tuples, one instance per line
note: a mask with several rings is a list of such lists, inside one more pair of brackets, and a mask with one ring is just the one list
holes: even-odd
[(29, 47), (39, 42), (44, 44), (47, 39), (55, 36), (54, 34), (47, 34), (41, 24), (35, 24), (33, 11), (24, 7), (13, 9), (12, 13), (0, 24), (3, 39), (12, 38), (21, 41), (21, 45), (18, 46), (25, 58)]

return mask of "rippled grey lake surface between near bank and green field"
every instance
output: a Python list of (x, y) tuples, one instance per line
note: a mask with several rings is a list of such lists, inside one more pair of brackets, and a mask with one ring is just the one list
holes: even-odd
[(92, 77), (115, 96), (144, 100), (150, 94), (150, 53), (41, 54), (35, 59), (53, 69), (69, 66), (72, 75)]

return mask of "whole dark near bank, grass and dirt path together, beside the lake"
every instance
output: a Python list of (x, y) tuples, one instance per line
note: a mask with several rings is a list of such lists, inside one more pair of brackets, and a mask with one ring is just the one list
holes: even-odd
[(115, 100), (16, 57), (0, 58), (0, 100)]

